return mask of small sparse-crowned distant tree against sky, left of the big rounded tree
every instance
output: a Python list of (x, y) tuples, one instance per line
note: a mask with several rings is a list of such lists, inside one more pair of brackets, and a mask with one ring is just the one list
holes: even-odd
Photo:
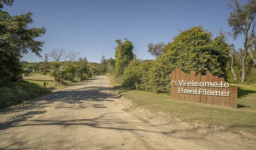
[(163, 48), (165, 47), (164, 42), (158, 42), (157, 44), (149, 43), (148, 44), (148, 52), (158, 58), (159, 56), (163, 55)]

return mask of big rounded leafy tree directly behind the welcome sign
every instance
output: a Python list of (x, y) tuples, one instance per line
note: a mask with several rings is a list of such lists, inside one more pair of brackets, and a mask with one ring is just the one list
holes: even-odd
[[(223, 36), (212, 39), (212, 33), (202, 27), (193, 27), (180, 32), (172, 43), (164, 48), (173, 66), (189, 73), (206, 73), (209, 70), (213, 75), (225, 77), (227, 58), (230, 46)], [(176, 69), (175, 68), (175, 69)]]

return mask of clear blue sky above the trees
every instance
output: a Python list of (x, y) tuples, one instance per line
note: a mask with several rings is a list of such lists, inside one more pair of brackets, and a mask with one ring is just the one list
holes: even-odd
[[(36, 40), (44, 41), (41, 55), (52, 48), (66, 47), (82, 51), (89, 62), (100, 62), (101, 56), (114, 58), (114, 40), (127, 38), (140, 59), (154, 59), (148, 43), (171, 42), (193, 26), (203, 26), (214, 37), (219, 29), (231, 31), (227, 18), (228, 0), (14, 0), (4, 6), (11, 15), (32, 12), (30, 27), (45, 27), (46, 33)], [(243, 47), (243, 37), (229, 44)], [(39, 62), (34, 53), (22, 60)]]

